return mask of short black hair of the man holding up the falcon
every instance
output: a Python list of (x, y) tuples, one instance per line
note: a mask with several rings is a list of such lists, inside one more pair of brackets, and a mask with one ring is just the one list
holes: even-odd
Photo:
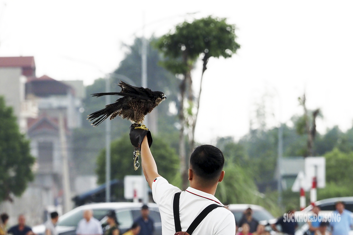
[(223, 170), (224, 156), (219, 148), (209, 144), (195, 148), (190, 156), (192, 171), (205, 180), (218, 178)]

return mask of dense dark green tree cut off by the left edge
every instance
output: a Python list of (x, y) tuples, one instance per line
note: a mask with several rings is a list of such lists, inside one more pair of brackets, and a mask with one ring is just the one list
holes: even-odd
[(20, 133), (12, 107), (0, 97), (0, 202), (21, 196), (33, 180), (29, 141)]

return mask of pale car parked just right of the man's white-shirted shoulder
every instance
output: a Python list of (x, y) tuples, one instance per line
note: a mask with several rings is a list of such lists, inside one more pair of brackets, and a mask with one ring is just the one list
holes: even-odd
[(251, 208), (253, 211), (252, 217), (256, 219), (260, 224), (265, 225), (265, 229), (267, 231), (271, 231), (272, 228), (270, 224), (276, 223), (277, 219), (273, 217), (267, 210), (265, 210), (262, 206), (252, 205), (252, 204), (230, 204), (228, 206), (228, 210), (232, 211), (235, 224), (238, 226), (241, 217), (243, 216), (243, 212), (247, 208)]

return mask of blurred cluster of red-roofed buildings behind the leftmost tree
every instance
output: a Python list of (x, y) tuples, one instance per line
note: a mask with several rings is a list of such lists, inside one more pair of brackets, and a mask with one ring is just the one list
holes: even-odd
[[(10, 223), (23, 213), (29, 224), (38, 224), (46, 219), (48, 208), (62, 210), (65, 167), (70, 190), (75, 186), (72, 130), (82, 124), (83, 81), (63, 82), (46, 75), (37, 78), (34, 57), (0, 57), (0, 82), (0, 95), (13, 107), (20, 130), (31, 140), (31, 154), (36, 157), (35, 180), (21, 198), (2, 203), (0, 210), (10, 214)], [(67, 165), (63, 156), (67, 156)]]

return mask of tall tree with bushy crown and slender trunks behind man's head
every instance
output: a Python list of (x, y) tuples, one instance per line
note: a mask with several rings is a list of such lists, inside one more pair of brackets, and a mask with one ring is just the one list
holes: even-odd
[[(167, 33), (156, 43), (156, 47), (166, 58), (163, 66), (170, 72), (182, 74), (183, 80), (180, 84), (179, 122), (181, 125), (179, 135), (179, 157), (181, 161), (181, 172), (183, 188), (188, 184), (187, 180), (187, 159), (185, 155), (184, 130), (189, 131), (190, 153), (195, 148), (195, 127), (197, 122), (200, 97), (202, 91), (203, 74), (207, 69), (210, 57), (224, 58), (231, 57), (240, 45), (235, 42), (235, 25), (227, 24), (226, 18), (206, 17), (196, 19), (191, 23), (185, 21), (175, 27), (173, 33)], [(202, 55), (203, 68), (201, 84), (196, 101), (192, 92), (191, 70), (194, 64)], [(187, 98), (188, 106), (184, 107), (184, 99)], [(193, 112), (193, 107), (196, 111)], [(185, 110), (186, 109), (186, 112)]]

